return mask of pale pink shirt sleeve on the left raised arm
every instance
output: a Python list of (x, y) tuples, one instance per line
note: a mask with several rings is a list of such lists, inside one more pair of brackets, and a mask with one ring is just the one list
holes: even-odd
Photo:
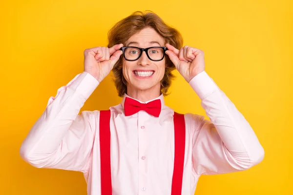
[(37, 168), (84, 172), (95, 136), (91, 121), (98, 115), (79, 112), (98, 85), (97, 79), (83, 72), (59, 88), (22, 142), (21, 157)]

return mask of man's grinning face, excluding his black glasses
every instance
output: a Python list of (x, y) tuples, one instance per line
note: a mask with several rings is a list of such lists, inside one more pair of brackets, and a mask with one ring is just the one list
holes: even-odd
[[(147, 48), (152, 46), (165, 46), (165, 40), (153, 28), (145, 28), (131, 36), (125, 46)], [(166, 59), (152, 61), (147, 58), (144, 51), (135, 61), (123, 58), (123, 76), (127, 81), (127, 92), (154, 90), (160, 92), (161, 83), (165, 74)]]

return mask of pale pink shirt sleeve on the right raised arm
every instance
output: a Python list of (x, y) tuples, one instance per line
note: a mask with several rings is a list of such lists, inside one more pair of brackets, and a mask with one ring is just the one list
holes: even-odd
[(235, 105), (204, 71), (189, 81), (210, 120), (192, 114), (192, 164), (197, 175), (249, 169), (264, 158), (264, 149)]

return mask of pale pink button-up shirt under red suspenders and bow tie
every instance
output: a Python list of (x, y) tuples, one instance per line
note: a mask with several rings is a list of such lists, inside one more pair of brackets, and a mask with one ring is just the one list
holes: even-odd
[[(246, 170), (264, 157), (249, 122), (205, 71), (189, 84), (210, 121), (185, 114), (182, 195), (194, 194), (200, 175)], [(88, 195), (101, 195), (99, 111), (78, 114), (98, 85), (83, 72), (59, 88), (20, 149), (21, 157), (34, 167), (83, 172)], [(171, 195), (174, 111), (161, 95), (159, 117), (145, 111), (126, 117), (126, 97), (110, 107), (113, 195)]]

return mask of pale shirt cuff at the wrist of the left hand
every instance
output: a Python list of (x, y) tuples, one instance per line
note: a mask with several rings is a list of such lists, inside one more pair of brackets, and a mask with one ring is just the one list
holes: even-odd
[(91, 74), (83, 72), (77, 75), (71, 82), (68, 83), (67, 86), (79, 94), (82, 94), (84, 98), (87, 99), (95, 91), (99, 84), (100, 82)]

